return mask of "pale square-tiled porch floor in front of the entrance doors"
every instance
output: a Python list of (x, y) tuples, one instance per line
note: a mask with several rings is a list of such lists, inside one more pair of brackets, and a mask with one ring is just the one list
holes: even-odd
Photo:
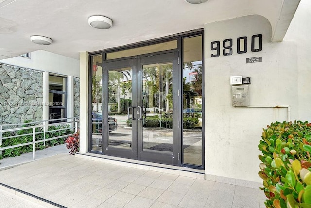
[(70, 208), (261, 208), (265, 200), (259, 189), (69, 154), (2, 170), (0, 183)]

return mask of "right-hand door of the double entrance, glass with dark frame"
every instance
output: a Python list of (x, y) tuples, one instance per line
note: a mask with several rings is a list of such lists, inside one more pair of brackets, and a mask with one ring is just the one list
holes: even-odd
[[(178, 86), (174, 70), (175, 54), (143, 57), (138, 60), (138, 159), (176, 164), (178, 163), (178, 136), (173, 129), (173, 88)], [(176, 84), (177, 83), (177, 84)], [(174, 86), (173, 86), (174, 85)], [(176, 90), (177, 91), (177, 88)], [(140, 119), (141, 117), (141, 119)], [(175, 123), (176, 124), (176, 123)], [(176, 158), (175, 158), (176, 155)]]

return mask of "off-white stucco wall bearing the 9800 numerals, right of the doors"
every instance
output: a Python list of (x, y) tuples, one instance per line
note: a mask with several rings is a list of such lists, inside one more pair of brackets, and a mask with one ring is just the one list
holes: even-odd
[[(282, 42), (271, 43), (270, 23), (247, 16), (205, 25), (205, 172), (262, 182), (258, 176), (262, 128), (287, 120), (287, 108), (233, 107), (230, 76), (251, 77), (250, 106), (290, 106), (291, 120), (311, 121), (311, 3), (302, 0)], [(260, 52), (251, 36), (263, 35)], [(248, 51), (237, 54), (237, 38), (248, 37)], [(211, 57), (210, 43), (233, 39), (233, 55)], [(221, 47), (222, 49), (222, 47)], [(246, 58), (262, 62), (246, 63)]]

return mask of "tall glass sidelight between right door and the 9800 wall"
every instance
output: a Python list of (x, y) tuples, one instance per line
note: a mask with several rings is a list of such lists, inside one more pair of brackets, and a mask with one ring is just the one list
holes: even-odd
[(202, 166), (202, 35), (183, 46), (183, 163)]

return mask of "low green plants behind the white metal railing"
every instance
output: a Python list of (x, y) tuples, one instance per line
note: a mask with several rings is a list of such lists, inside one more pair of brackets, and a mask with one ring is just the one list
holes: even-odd
[[(8, 146), (13, 146), (17, 144), (23, 144), (27, 142), (32, 142), (33, 141), (33, 124), (28, 124), (31, 122), (30, 120), (25, 121), (25, 124), (22, 125), (22, 127), (30, 127), (28, 129), (22, 129), (22, 130), (17, 130), (17, 131), (12, 131), (12, 132), (4, 132), (2, 134), (2, 138), (9, 137), (9, 136), (17, 136), (14, 138), (8, 138), (8, 139), (2, 139), (2, 145), (1, 147), (8, 147)], [(70, 129), (67, 130), (62, 130), (65, 128), (68, 128), (69, 125), (54, 125), (54, 126), (49, 126), (49, 131), (52, 130), (58, 130), (55, 132), (48, 132), (46, 133), (46, 139), (48, 138), (53, 138), (57, 136), (62, 136), (62, 135), (68, 135), (72, 134), (73, 131)], [(35, 141), (43, 140), (43, 133), (38, 133), (38, 132), (43, 132), (43, 128), (35, 128)], [(21, 136), (18, 136), (21, 135)], [(65, 138), (58, 138), (58, 139), (53, 139), (51, 141), (46, 141), (46, 145), (44, 146), (43, 141), (40, 143), (35, 144), (35, 149), (36, 150), (42, 150), (46, 147), (51, 147), (59, 144), (64, 144), (65, 143)], [(15, 157), (19, 156), (23, 153), (27, 152), (32, 152), (33, 151), (33, 146), (32, 145), (26, 145), (26, 146), (21, 146), (21, 147), (16, 147), (16, 148), (11, 148), (11, 149), (6, 149), (2, 150), (2, 156), (0, 156), (0, 159), (4, 157)]]

